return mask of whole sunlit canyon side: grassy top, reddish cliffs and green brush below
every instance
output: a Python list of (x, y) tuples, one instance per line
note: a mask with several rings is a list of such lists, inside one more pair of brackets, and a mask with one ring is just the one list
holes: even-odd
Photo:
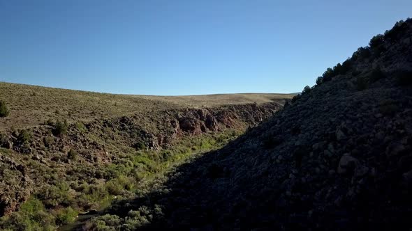
[(188, 107), (170, 97), (0, 88), (10, 109), (0, 118), (1, 230), (55, 230), (134, 198), (155, 175), (228, 143), (284, 101)]

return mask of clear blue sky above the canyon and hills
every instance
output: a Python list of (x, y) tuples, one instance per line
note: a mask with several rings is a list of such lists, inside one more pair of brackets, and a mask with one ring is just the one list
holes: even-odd
[(411, 0), (0, 0), (0, 81), (108, 93), (291, 93)]

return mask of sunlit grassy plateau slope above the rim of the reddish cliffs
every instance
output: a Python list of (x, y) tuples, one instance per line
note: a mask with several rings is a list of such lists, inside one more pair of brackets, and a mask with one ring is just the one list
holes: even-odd
[(230, 104), (263, 104), (285, 100), (288, 94), (221, 94), (193, 96), (113, 95), (80, 90), (45, 88), (0, 82), (0, 99), (7, 103), (11, 115), (0, 120), (0, 131), (24, 128), (47, 120), (89, 122), (120, 116), (156, 115), (168, 109), (202, 108)]

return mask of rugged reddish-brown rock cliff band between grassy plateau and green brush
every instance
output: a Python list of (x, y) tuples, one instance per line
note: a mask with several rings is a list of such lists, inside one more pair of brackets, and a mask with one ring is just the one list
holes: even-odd
[[(243, 132), (279, 109), (281, 105), (277, 103), (174, 109), (145, 117), (78, 122), (68, 125), (67, 134), (59, 136), (53, 135), (52, 125), (1, 134), (0, 215), (12, 213), (41, 188), (58, 181), (41, 177), (38, 169), (31, 169), (33, 165), (47, 170), (53, 168), (58, 175), (68, 174), (76, 165), (87, 166), (84, 168), (93, 174), (84, 177), (104, 179), (104, 175), (94, 175), (96, 171), (101, 170), (101, 166), (122, 161), (127, 152), (173, 150), (175, 143), (184, 138), (219, 134), (229, 129)], [(22, 134), (27, 134), (27, 138)], [(75, 159), (68, 154), (73, 151), (77, 155)], [(62, 177), (61, 181), (66, 178)]]

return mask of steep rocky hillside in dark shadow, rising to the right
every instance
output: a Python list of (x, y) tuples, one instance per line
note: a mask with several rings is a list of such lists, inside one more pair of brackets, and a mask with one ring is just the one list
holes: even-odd
[(84, 230), (410, 230), (412, 19)]

